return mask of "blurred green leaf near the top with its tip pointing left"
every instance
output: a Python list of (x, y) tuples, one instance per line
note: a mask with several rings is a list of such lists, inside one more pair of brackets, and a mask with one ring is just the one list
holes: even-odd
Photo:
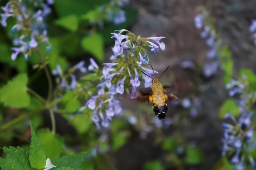
[(62, 26), (71, 32), (77, 31), (79, 26), (79, 18), (76, 15), (69, 15), (66, 17), (61, 17), (54, 22), (57, 26)]

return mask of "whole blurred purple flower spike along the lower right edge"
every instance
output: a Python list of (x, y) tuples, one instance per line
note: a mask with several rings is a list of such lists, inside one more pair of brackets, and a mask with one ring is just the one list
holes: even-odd
[(237, 95), (241, 116), (236, 120), (229, 112), (224, 117), (233, 120), (234, 125), (223, 123), (222, 155), (226, 154), (231, 158), (230, 162), (236, 164), (236, 170), (244, 170), (246, 162), (250, 162), (250, 166), (255, 167), (255, 161), (249, 154), (256, 146), (254, 126), (251, 120), (254, 116), (251, 106), (255, 102), (255, 92), (250, 90), (245, 75), (241, 75), (239, 80), (231, 79), (230, 83), (226, 84), (226, 88), (230, 90), (230, 96)]

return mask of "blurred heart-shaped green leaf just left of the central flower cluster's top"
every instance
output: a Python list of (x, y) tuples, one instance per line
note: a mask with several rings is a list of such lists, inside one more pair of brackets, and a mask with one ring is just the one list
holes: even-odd
[(101, 34), (95, 33), (89, 36), (85, 36), (82, 39), (81, 45), (85, 51), (93, 54), (95, 58), (98, 59), (99, 61), (102, 62), (104, 60), (104, 55), (103, 55), (104, 44), (103, 44), (103, 38)]

